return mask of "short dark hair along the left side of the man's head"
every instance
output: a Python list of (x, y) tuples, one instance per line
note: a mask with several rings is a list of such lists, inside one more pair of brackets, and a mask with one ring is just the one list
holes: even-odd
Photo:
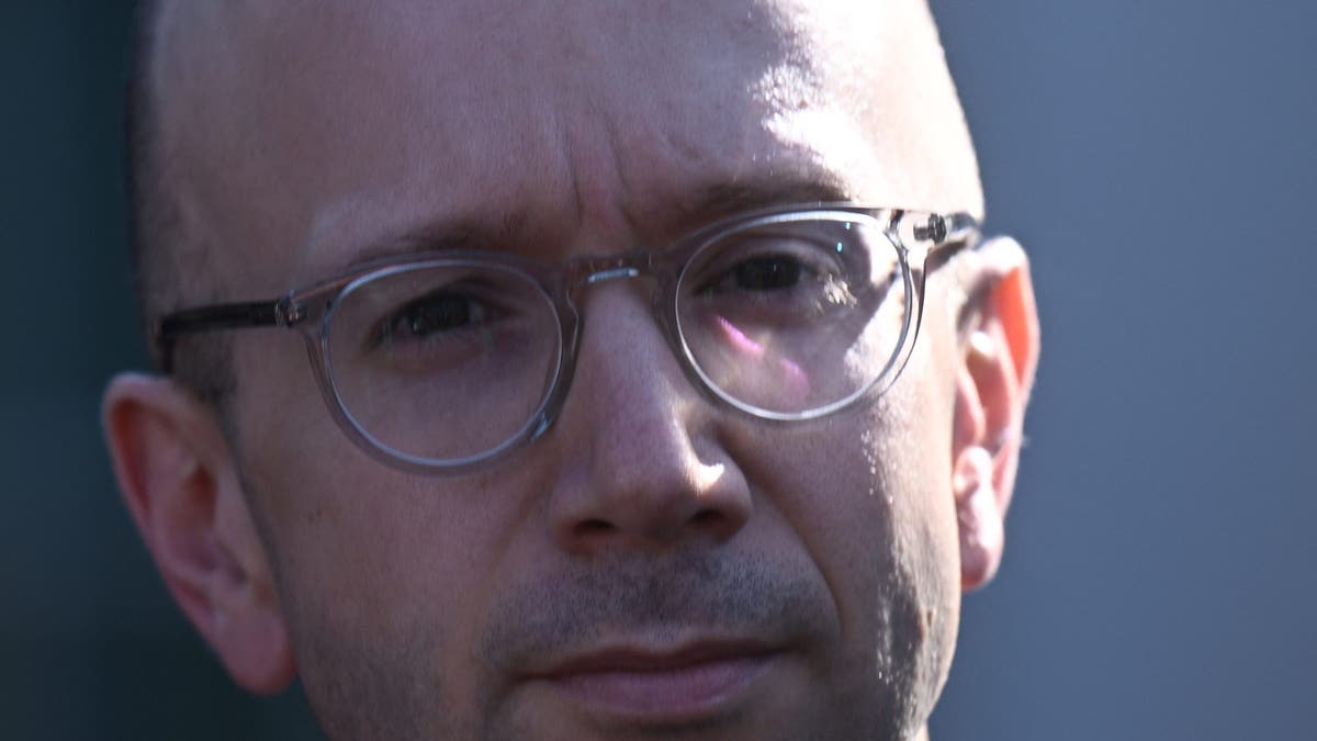
[[(155, 29), (162, 0), (137, 7), (124, 108), (124, 186), (133, 286), (142, 330), (157, 368), (163, 359), (155, 343), (157, 320), (188, 299), (184, 276), (205, 266), (204, 245), (190, 233), (174, 189), (167, 154), (161, 146), (155, 84)], [(237, 388), (230, 341), (224, 334), (183, 338), (173, 348), (171, 376), (196, 398), (227, 417)]]

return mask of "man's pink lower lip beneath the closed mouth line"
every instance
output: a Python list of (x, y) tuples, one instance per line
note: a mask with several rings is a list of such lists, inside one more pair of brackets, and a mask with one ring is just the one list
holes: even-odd
[(770, 665), (769, 655), (741, 657), (653, 671), (589, 671), (553, 683), (611, 715), (678, 723), (726, 708)]

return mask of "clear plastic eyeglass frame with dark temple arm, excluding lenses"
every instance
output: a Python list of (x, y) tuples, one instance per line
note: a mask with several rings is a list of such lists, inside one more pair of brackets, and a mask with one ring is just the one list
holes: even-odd
[[(881, 228), (900, 260), (903, 282), (903, 320), (896, 351), (886, 367), (869, 382), (830, 403), (802, 411), (776, 411), (748, 403), (730, 394), (701, 368), (684, 336), (678, 314), (678, 287), (686, 268), (710, 244), (728, 235), (788, 222), (865, 220)], [(637, 249), (607, 256), (583, 256), (565, 262), (543, 262), (491, 251), (444, 251), (410, 253), (358, 265), (350, 272), (294, 289), (270, 301), (220, 303), (184, 309), (161, 318), (155, 324), (155, 344), (162, 369), (173, 370), (175, 344), (180, 336), (219, 330), (282, 327), (300, 334), (315, 369), (321, 394), (338, 426), (365, 452), (403, 471), (457, 473), (489, 465), (508, 452), (544, 435), (566, 402), (572, 386), (583, 319), (574, 295), (578, 290), (615, 278), (648, 277), (655, 281), (652, 314), (678, 359), (685, 374), (706, 398), (740, 413), (772, 422), (815, 419), (872, 400), (900, 376), (915, 344), (923, 314), (925, 281), (932, 269), (979, 237), (976, 220), (967, 214), (927, 214), (898, 208), (871, 208), (853, 203), (818, 203), (777, 207), (723, 219), (691, 232), (662, 249)], [(428, 459), (391, 447), (362, 426), (344, 402), (329, 361), (329, 327), (337, 302), (374, 280), (424, 266), (473, 266), (518, 273), (535, 282), (557, 314), (557, 357), (551, 363), (551, 380), (533, 414), (511, 436), (482, 452), (457, 459)]]

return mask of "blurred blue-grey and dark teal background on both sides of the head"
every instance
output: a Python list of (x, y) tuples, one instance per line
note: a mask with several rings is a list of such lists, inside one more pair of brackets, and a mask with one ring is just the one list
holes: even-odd
[[(932, 5), (1044, 351), (1006, 563), (965, 601), (934, 741), (1313, 738), (1317, 4)], [(229, 686), (103, 452), (100, 389), (145, 363), (130, 11), (0, 16), (0, 737), (316, 738), (296, 691)]]

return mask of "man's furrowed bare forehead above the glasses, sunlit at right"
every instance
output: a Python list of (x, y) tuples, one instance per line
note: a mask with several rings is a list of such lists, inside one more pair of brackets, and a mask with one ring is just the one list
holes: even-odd
[(157, 32), (184, 212), (271, 287), (443, 223), (576, 249), (710, 194), (980, 210), (917, 1), (188, 1)]

